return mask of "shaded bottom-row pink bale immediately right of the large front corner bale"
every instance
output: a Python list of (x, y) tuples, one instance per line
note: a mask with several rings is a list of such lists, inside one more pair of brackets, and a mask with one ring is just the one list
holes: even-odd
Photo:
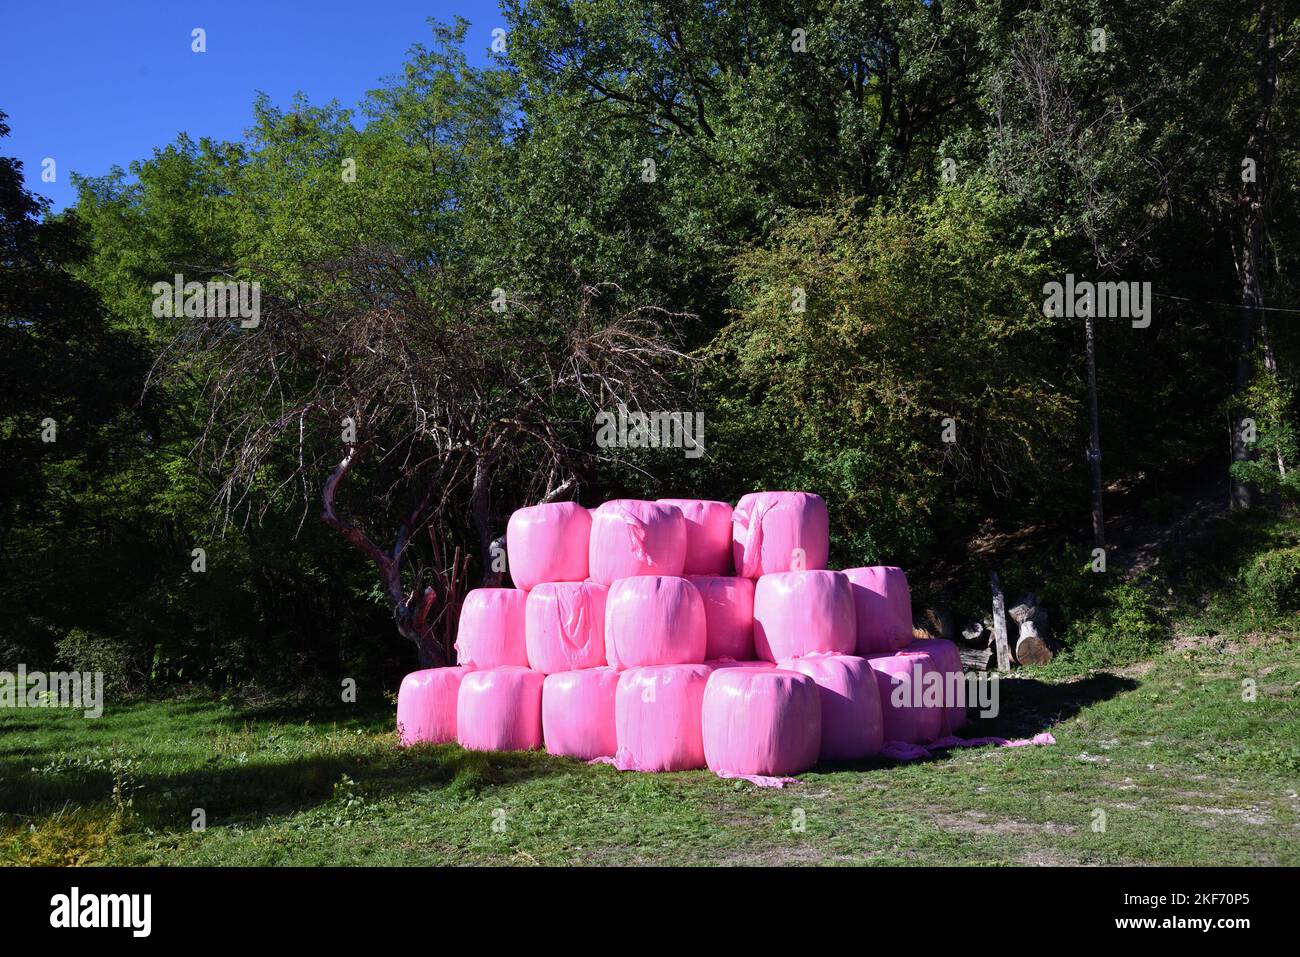
[(822, 696), (822, 758), (857, 761), (878, 754), (885, 742), (876, 672), (866, 658), (809, 655), (781, 662), (816, 681)]

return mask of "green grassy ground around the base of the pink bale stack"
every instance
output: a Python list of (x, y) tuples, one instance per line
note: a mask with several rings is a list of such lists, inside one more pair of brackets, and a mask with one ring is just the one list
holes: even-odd
[(819, 767), (784, 791), (402, 750), (382, 700), (0, 711), (0, 861), (1300, 863), (1295, 641), (1187, 638), (1123, 668), (1023, 672), (1001, 698), (1002, 716), (966, 733), (1058, 744)]

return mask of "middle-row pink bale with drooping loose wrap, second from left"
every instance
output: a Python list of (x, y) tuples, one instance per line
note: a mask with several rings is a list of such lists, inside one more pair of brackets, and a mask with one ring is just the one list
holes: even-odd
[(543, 674), (604, 664), (604, 599), (597, 581), (543, 581), (528, 593), (528, 667)]

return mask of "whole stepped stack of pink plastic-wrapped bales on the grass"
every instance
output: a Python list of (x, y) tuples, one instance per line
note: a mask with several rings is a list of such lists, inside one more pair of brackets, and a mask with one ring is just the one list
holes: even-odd
[(515, 588), (471, 592), (456, 667), (403, 680), (402, 741), (783, 776), (950, 735), (965, 707), (910, 692), (956, 685), (957, 648), (913, 642), (900, 568), (827, 555), (803, 492), (520, 508)]

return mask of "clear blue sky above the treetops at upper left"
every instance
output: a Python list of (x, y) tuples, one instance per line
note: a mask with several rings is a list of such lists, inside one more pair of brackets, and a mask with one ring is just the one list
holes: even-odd
[[(0, 111), (10, 135), (0, 153), (23, 161), (27, 189), (55, 209), (74, 202), (69, 173), (99, 176), (151, 155), (178, 133), (234, 139), (252, 120), (257, 91), (287, 105), (356, 105), (398, 73), (425, 21), (460, 14), (471, 62), (486, 61), (495, 0), (126, 0), (8, 3), (0, 14)], [(207, 31), (205, 53), (190, 49)], [(56, 179), (42, 182), (42, 163)]]

